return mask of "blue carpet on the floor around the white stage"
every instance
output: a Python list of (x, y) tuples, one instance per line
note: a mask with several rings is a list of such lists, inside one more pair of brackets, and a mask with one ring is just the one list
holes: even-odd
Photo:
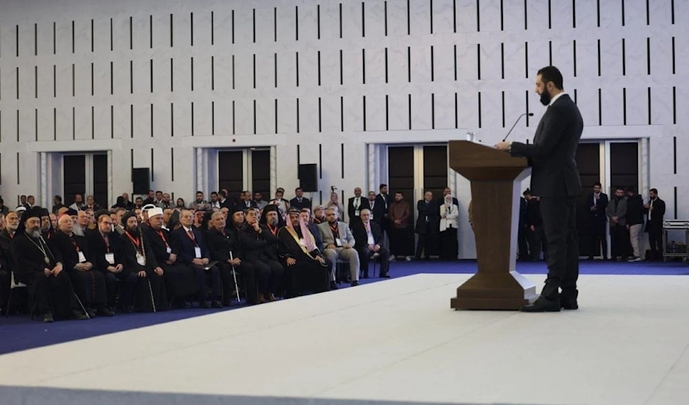
[[(404, 262), (391, 263), (391, 275), (395, 278), (410, 276), (416, 273), (460, 273), (471, 274), (476, 271), (475, 260), (460, 260), (457, 262)], [(519, 262), (517, 271), (524, 274), (545, 274), (544, 262)], [(689, 274), (689, 266), (684, 262), (603, 262), (582, 261), (579, 265), (581, 274), (619, 274), (619, 275), (683, 275)], [(361, 284), (379, 282), (384, 279), (369, 278), (361, 280)], [(340, 284), (340, 288), (348, 288), (349, 284)], [(208, 315), (218, 311), (232, 311), (242, 308), (234, 305), (225, 309), (174, 309), (158, 313), (125, 313), (112, 318), (94, 318), (84, 321), (61, 321), (53, 324), (43, 324), (40, 320), (30, 320), (28, 315), (12, 315), (9, 319), (0, 319), (0, 354), (12, 353), (35, 347), (47, 346), (71, 340), (83, 339), (106, 333), (127, 331), (163, 322), (172, 322)]]

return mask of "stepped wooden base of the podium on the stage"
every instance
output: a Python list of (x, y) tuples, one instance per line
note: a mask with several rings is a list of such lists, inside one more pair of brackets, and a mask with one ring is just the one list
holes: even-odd
[(535, 285), (517, 271), (482, 272), (457, 287), (450, 308), (518, 311), (536, 298)]

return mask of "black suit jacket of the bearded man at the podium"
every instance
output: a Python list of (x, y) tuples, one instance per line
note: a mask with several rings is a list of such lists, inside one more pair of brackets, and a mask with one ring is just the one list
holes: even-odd
[(524, 156), (531, 165), (531, 192), (539, 197), (575, 197), (582, 194), (575, 155), (584, 121), (568, 94), (559, 96), (543, 114), (533, 143), (513, 142), (512, 156)]

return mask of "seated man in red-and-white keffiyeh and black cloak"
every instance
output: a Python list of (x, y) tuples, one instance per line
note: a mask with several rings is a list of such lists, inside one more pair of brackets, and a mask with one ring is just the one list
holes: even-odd
[(329, 271), (325, 258), (298, 209), (289, 210), (287, 227), (278, 231), (278, 252), (287, 263), (290, 296), (301, 295), (304, 291), (328, 290)]

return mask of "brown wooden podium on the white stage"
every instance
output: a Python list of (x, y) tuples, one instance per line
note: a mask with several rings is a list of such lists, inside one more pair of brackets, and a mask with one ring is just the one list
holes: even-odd
[(454, 309), (517, 310), (536, 298), (535, 285), (515, 271), (520, 182), (526, 158), (469, 141), (450, 141), (450, 167), (471, 180), (478, 272), (457, 287)]

